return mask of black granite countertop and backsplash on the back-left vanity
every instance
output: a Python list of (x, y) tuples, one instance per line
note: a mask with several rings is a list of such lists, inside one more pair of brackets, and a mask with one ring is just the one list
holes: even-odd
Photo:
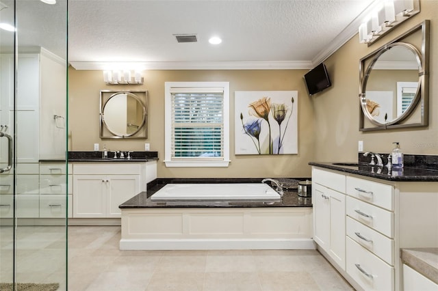
[[(123, 151), (127, 152), (127, 151)], [(130, 152), (128, 158), (114, 158), (114, 152), (108, 152), (108, 158), (103, 158), (103, 152), (101, 151), (88, 151), (88, 152), (68, 152), (68, 161), (69, 162), (149, 162), (149, 161), (157, 161), (158, 152)]]

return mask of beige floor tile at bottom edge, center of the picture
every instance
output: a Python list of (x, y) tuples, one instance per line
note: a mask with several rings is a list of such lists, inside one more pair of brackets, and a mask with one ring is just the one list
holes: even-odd
[(257, 273), (205, 273), (204, 291), (257, 291), (261, 290)]

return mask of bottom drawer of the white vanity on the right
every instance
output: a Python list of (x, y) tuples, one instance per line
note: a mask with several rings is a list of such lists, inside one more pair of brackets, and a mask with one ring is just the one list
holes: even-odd
[(347, 236), (347, 273), (364, 290), (394, 290), (394, 267)]

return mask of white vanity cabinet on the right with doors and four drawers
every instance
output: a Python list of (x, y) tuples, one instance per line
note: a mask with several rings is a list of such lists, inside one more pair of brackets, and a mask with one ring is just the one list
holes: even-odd
[[(357, 290), (403, 290), (400, 249), (438, 245), (438, 182), (395, 182), (315, 166), (312, 180), (313, 238), (321, 253)], [(344, 213), (344, 223), (333, 218), (329, 204), (342, 193), (344, 212), (340, 199), (335, 211)], [(344, 265), (333, 247), (342, 239)]]

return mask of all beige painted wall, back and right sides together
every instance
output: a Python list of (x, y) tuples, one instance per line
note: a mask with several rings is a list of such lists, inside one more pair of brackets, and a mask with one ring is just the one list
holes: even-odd
[[(420, 14), (405, 21), (387, 36), (368, 47), (355, 36), (325, 61), (332, 87), (309, 97), (302, 81), (307, 70), (151, 70), (144, 72), (144, 85), (108, 86), (101, 71), (69, 70), (70, 150), (92, 150), (93, 143), (110, 150), (159, 152), (159, 178), (309, 177), (309, 161), (355, 161), (357, 143), (364, 149), (390, 152), (400, 141), (409, 154), (438, 154), (438, 1), (421, 1)], [(424, 19), (430, 19), (430, 122), (426, 128), (359, 131), (359, 59), (396, 38)], [(227, 168), (166, 168), (164, 159), (164, 82), (229, 81), (231, 164)], [(99, 90), (146, 89), (149, 91), (149, 137), (140, 140), (99, 138)], [(298, 90), (298, 154), (282, 156), (234, 155), (234, 92)]]

